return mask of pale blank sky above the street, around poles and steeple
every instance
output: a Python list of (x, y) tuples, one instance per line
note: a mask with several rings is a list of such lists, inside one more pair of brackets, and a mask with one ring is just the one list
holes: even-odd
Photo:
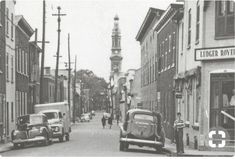
[[(110, 74), (113, 18), (118, 14), (121, 28), (122, 71), (140, 67), (140, 45), (136, 34), (150, 7), (166, 9), (175, 0), (47, 0), (45, 66), (55, 68), (57, 49), (57, 6), (67, 16), (61, 20), (59, 68), (65, 68), (70, 33), (71, 58), (77, 55), (77, 69), (90, 69), (106, 80)], [(23, 15), (32, 28), (42, 34), (42, 0), (17, 0), (16, 14)], [(41, 46), (41, 44), (40, 44)], [(74, 67), (74, 65), (72, 65)]]

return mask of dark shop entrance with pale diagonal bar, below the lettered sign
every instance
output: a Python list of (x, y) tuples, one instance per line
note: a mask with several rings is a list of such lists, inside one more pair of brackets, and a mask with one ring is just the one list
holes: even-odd
[(234, 140), (235, 73), (210, 76), (210, 128), (225, 128)]

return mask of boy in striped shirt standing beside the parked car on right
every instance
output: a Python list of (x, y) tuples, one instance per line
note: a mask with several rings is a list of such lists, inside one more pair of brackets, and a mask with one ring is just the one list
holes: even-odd
[(174, 122), (174, 132), (176, 141), (177, 154), (184, 153), (184, 142), (183, 142), (183, 128), (185, 127), (184, 121), (181, 119), (181, 113), (177, 113), (177, 119)]

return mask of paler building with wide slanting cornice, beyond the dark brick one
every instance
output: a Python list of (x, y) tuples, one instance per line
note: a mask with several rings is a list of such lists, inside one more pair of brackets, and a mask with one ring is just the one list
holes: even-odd
[(163, 12), (161, 9), (150, 8), (136, 36), (136, 40), (141, 45), (142, 107), (149, 110), (155, 110), (155, 106), (157, 105), (157, 35), (154, 32), (154, 25), (158, 22)]

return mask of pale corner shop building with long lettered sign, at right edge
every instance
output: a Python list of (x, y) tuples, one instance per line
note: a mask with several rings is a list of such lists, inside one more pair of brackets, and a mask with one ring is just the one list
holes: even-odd
[(190, 147), (216, 150), (209, 145), (212, 129), (225, 132), (225, 149), (234, 142), (234, 19), (233, 1), (184, 2), (175, 79)]

